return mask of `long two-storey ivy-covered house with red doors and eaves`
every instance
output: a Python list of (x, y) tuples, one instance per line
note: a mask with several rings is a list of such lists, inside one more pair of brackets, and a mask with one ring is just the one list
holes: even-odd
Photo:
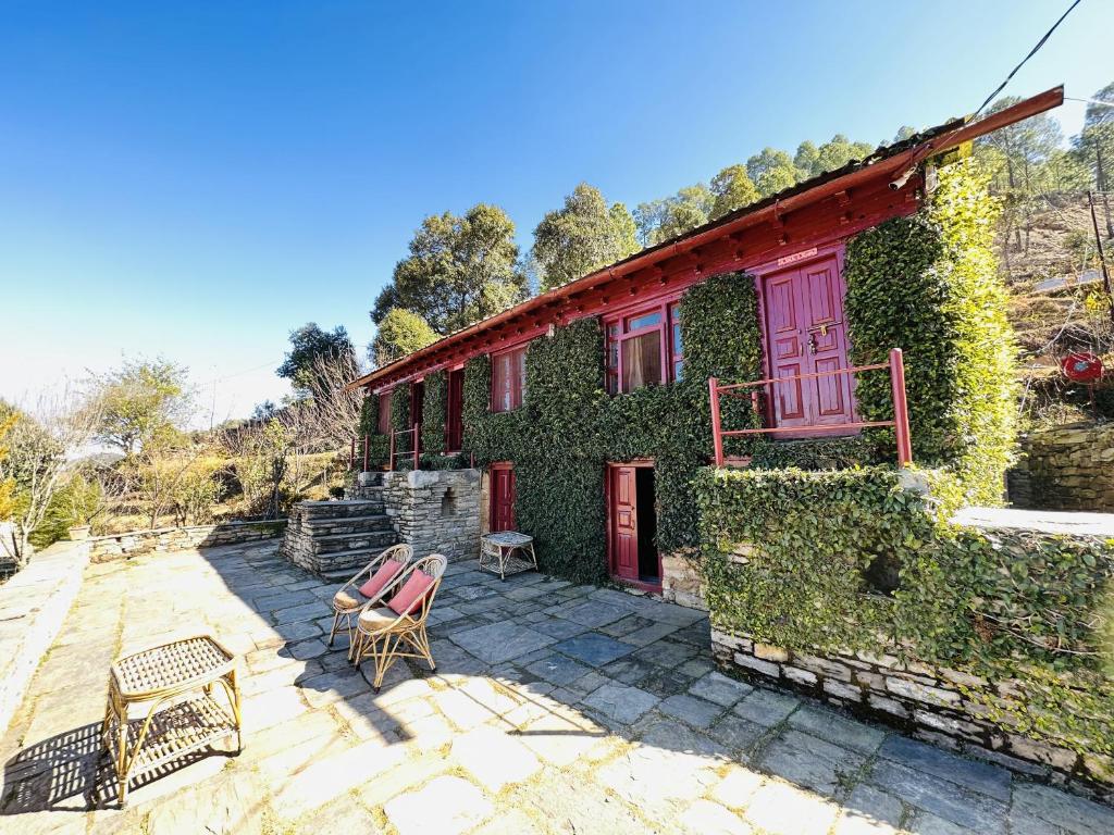
[(881, 147), (372, 371), (353, 383), (369, 465), (412, 466), (417, 436), (421, 469), (483, 471), (481, 524), (531, 533), (547, 571), (677, 597), (713, 451), (709, 379), (786, 379), (723, 406), (731, 429), (780, 430), (730, 438), (735, 463), (892, 462), (889, 430), (843, 426), (890, 418), (885, 371), (830, 372), (897, 347), (915, 462), (996, 502), (1013, 347), (969, 146), (1062, 100)]

